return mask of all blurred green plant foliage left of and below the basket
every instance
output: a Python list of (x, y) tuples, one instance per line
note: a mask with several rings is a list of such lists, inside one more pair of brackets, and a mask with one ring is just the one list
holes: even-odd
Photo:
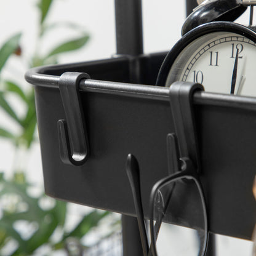
[[(74, 23), (46, 24), (47, 14), (53, 2), (53, 0), (40, 0), (38, 2), (37, 6), (40, 13), (38, 42), (42, 41), (47, 31), (54, 30), (58, 26), (66, 26), (78, 30), (79, 37), (62, 42), (62, 44), (54, 47), (48, 54), (43, 56), (39, 55), (36, 50), (33, 57), (31, 57), (30, 63), (28, 63), (29, 68), (57, 63), (57, 57), (60, 54), (80, 49), (89, 40), (89, 35), (86, 31)], [(25, 148), (28, 152), (31, 144), (36, 140), (36, 110), (33, 88), (30, 86), (24, 90), (21, 84), (5, 80), (1, 76), (1, 71), (9, 57), (14, 54), (22, 56), (21, 38), (22, 33), (15, 34), (0, 48), (0, 82), (2, 86), (0, 107), (19, 127), (15, 132), (0, 127), (0, 136), (12, 141), (17, 151)], [(10, 95), (15, 95), (26, 106), (23, 116), (20, 116), (10, 104)], [(67, 246), (68, 239), (75, 239), (78, 242), (78, 246), (82, 247), (80, 239), (109, 214), (108, 212), (92, 210), (92, 212), (82, 217), (73, 230), (66, 231), (66, 202), (47, 198), (43, 193), (35, 196), (29, 192), (31, 188), (33, 188), (33, 185), (28, 183), (25, 170), (15, 169), (11, 178), (6, 178), (4, 174), (0, 174), (0, 255), (6, 255), (3, 250), (6, 250), (8, 245), (14, 248), (14, 250), (10, 250), (9, 255), (35, 255), (41, 246), (46, 245), (50, 246), (52, 251), (64, 249), (68, 255), (75, 255), (71, 254)], [(42, 203), (47, 200), (51, 202), (50, 207), (44, 207)], [(26, 232), (22, 232), (19, 226), (23, 226), (23, 229), (25, 227)], [(58, 233), (57, 241), (53, 239), (56, 233)], [(82, 247), (82, 249), (84, 248)]]

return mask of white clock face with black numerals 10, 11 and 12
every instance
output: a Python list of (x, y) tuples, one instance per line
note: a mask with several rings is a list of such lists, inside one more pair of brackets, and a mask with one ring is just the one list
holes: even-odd
[(234, 33), (210, 33), (182, 50), (167, 76), (198, 82), (207, 92), (256, 96), (256, 44)]

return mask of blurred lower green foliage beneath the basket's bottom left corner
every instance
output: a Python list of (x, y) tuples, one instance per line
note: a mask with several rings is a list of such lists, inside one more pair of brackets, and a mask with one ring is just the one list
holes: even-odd
[[(28, 193), (31, 185), (26, 183), (22, 173), (15, 174), (12, 180), (5, 180), (1, 175), (0, 186), (0, 251), (8, 242), (15, 241), (14, 250), (10, 255), (32, 255), (45, 244), (52, 250), (66, 249), (66, 239), (81, 239), (109, 214), (92, 210), (73, 230), (65, 231), (65, 202), (47, 198), (44, 194), (31, 196), (31, 193)], [(19, 232), (18, 226), (22, 226), (23, 230), (25, 228), (25, 232)], [(58, 239), (54, 241), (52, 235), (57, 229)]]

